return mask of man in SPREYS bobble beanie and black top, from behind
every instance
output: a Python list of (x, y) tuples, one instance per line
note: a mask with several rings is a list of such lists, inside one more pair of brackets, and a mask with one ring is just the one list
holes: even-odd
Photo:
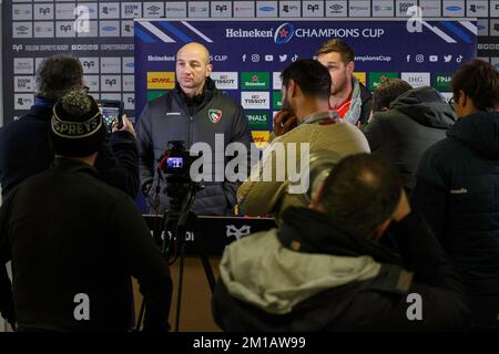
[(169, 329), (167, 264), (133, 200), (98, 178), (104, 138), (95, 101), (81, 91), (63, 96), (51, 121), (54, 166), (0, 208), (0, 312), (20, 331), (128, 331), (130, 275), (144, 295), (144, 330)]

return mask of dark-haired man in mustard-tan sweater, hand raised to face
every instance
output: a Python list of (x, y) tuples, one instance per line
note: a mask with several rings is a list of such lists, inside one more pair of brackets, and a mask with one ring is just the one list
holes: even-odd
[[(326, 149), (339, 156), (369, 152), (364, 134), (328, 110), (332, 81), (326, 67), (315, 60), (297, 60), (281, 77), (283, 110), (274, 117), (276, 137), (264, 149), (262, 164), (253, 166), (251, 178), (237, 190), (241, 210), (249, 216), (273, 212), (278, 219), (278, 214), (287, 207), (306, 205), (303, 192), (289, 191), (289, 186), (295, 184), (288, 173), (293, 163), (283, 158), (286, 153), (277, 155), (279, 147), (285, 152), (299, 150), (295, 164), (304, 169), (308, 160), (302, 159), (302, 152), (308, 158), (307, 147), (309, 153)], [(279, 165), (281, 162), (284, 164)], [(266, 178), (269, 170), (272, 178)], [(279, 173), (284, 178), (277, 178)]]

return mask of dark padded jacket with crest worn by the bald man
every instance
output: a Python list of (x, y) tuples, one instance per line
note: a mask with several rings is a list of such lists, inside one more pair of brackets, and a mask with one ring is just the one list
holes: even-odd
[[(222, 144), (215, 143), (216, 134), (223, 134)], [(243, 107), (221, 93), (210, 77), (206, 79), (201, 102), (187, 106), (177, 84), (176, 90), (146, 104), (138, 125), (140, 176), (142, 186), (152, 185), (147, 206), (155, 214), (165, 211), (170, 206), (165, 176), (157, 169), (157, 163), (171, 140), (185, 142), (186, 149), (194, 143), (206, 143), (211, 148), (212, 181), (203, 181), (204, 189), (196, 194), (193, 211), (203, 215), (232, 214), (240, 183), (224, 178), (228, 158), (216, 156), (215, 153), (224, 154), (225, 147), (235, 142), (242, 143), (249, 152), (253, 138)], [(223, 150), (217, 152), (221, 148)], [(203, 155), (203, 158), (207, 157)], [(222, 170), (222, 174), (215, 176), (217, 170)]]

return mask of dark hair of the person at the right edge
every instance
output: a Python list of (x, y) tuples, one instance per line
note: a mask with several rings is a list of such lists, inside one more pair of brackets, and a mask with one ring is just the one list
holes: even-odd
[(482, 60), (459, 66), (450, 85), (455, 100), (459, 100), (462, 90), (479, 111), (493, 111), (499, 105), (499, 71)]

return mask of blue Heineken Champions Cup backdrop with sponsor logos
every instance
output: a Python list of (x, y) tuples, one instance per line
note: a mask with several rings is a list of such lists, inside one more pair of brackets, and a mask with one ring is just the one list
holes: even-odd
[(211, 52), (216, 86), (241, 103), (255, 140), (264, 143), (273, 113), (282, 107), (282, 70), (299, 58), (312, 58), (325, 40), (342, 38), (353, 46), (355, 74), (369, 90), (386, 76), (401, 77), (415, 87), (432, 85), (450, 95), (452, 72), (476, 56), (476, 21), (467, 19), (427, 19), (420, 31), (397, 19), (136, 20), (135, 113), (174, 88), (176, 51), (201, 42)]

